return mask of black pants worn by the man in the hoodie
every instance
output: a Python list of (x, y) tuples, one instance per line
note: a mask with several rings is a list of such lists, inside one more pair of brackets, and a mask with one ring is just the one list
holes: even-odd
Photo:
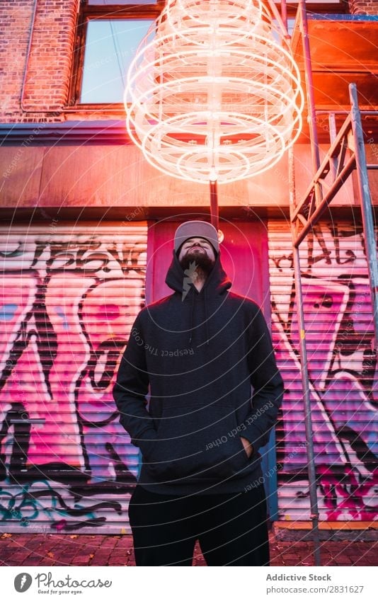
[(191, 566), (197, 539), (207, 566), (269, 566), (263, 485), (185, 497), (137, 484), (129, 517), (137, 566)]

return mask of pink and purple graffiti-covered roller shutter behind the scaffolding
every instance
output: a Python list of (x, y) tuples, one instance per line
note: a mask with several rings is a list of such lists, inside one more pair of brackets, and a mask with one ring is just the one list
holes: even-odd
[[(268, 225), (273, 340), (285, 379), (277, 427), (279, 519), (309, 520), (298, 326), (287, 222)], [(378, 372), (362, 225), (322, 223), (301, 244), (321, 520), (374, 520)]]

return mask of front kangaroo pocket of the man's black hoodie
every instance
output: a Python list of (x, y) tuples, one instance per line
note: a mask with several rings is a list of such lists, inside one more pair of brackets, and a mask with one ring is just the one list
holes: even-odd
[(239, 474), (250, 459), (244, 450), (233, 407), (166, 406), (148, 469), (159, 481), (219, 481)]

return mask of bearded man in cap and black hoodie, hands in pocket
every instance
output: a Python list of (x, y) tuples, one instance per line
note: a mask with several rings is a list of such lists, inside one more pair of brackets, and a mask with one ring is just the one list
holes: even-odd
[(229, 292), (207, 222), (178, 227), (166, 283), (173, 294), (134, 321), (113, 391), (142, 452), (129, 505), (137, 566), (190, 566), (197, 539), (208, 566), (268, 566), (258, 449), (283, 386), (265, 319)]

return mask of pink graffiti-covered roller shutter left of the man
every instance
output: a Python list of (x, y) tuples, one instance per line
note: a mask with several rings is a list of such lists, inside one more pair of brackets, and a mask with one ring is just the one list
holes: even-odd
[(130, 532), (139, 458), (112, 389), (144, 304), (147, 223), (0, 236), (2, 529)]

